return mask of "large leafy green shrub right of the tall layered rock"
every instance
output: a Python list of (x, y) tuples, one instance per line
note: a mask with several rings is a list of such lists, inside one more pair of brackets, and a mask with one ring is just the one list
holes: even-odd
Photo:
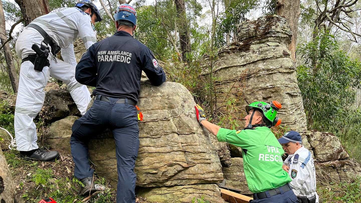
[(360, 87), (361, 65), (340, 51), (329, 33), (298, 50), (304, 64), (297, 67), (297, 79), (308, 119), (308, 129), (340, 135), (347, 113), (355, 111), (355, 88)]

